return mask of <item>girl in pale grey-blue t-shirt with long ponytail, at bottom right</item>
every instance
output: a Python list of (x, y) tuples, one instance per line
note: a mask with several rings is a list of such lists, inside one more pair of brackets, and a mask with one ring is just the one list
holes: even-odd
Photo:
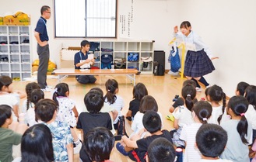
[(252, 143), (252, 127), (244, 115), (248, 105), (247, 99), (242, 96), (230, 98), (226, 112), (231, 115), (231, 119), (220, 124), (228, 136), (226, 149), (220, 156), (222, 159), (250, 161), (248, 145)]

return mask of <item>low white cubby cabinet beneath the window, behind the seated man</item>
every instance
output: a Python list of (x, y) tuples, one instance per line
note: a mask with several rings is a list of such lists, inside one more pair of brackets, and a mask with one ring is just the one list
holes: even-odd
[[(112, 55), (114, 68), (136, 68), (142, 74), (153, 74), (154, 41), (92, 41), (90, 53), (94, 53), (94, 66), (109, 68), (102, 56)], [(95, 44), (99, 47), (95, 49)], [(93, 47), (92, 47), (93, 45)]]

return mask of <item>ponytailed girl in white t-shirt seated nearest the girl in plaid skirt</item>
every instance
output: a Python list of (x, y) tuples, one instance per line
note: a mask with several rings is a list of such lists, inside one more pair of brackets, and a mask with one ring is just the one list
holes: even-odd
[(185, 105), (178, 106), (174, 112), (174, 130), (171, 131), (173, 134), (173, 141), (176, 146), (184, 146), (184, 141), (180, 140), (182, 127), (191, 123), (194, 123), (192, 118), (192, 108), (194, 105), (193, 100), (196, 96), (195, 87), (191, 84), (185, 85), (181, 90), (181, 96), (184, 98)]

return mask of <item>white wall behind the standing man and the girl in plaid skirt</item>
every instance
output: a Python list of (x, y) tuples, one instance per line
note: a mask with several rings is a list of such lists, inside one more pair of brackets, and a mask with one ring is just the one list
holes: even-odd
[[(53, 0), (0, 0), (0, 15), (22, 10), (30, 14), (31, 26), (36, 26), (40, 7), (50, 5), (52, 18), (47, 22), (51, 60), (58, 64), (61, 46), (79, 46), (81, 39), (54, 39)], [(75, 2), (75, 1), (74, 1)], [(232, 96), (239, 81), (256, 84), (254, 40), (256, 37), (256, 1), (247, 0), (118, 0), (119, 14), (133, 2), (134, 19), (130, 39), (155, 40), (155, 50), (165, 50), (168, 57), (174, 26), (188, 20), (192, 29), (219, 57), (213, 60), (216, 71), (205, 76)], [(12, 4), (12, 5), (10, 5)], [(28, 5), (30, 4), (30, 5)], [(117, 16), (119, 17), (119, 16)], [(118, 24), (120, 26), (120, 24)], [(33, 41), (33, 60), (37, 59), (37, 43)], [(167, 60), (167, 59), (166, 59)], [(170, 65), (166, 62), (166, 69)]]

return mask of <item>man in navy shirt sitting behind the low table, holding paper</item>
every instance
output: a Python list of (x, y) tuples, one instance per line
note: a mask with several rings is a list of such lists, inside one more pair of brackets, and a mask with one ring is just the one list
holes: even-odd
[[(75, 69), (89, 69), (93, 66), (94, 58), (88, 57), (89, 55), (89, 41), (82, 40), (81, 50), (75, 53)], [(81, 84), (95, 83), (96, 78), (93, 75), (76, 75), (76, 80)]]

